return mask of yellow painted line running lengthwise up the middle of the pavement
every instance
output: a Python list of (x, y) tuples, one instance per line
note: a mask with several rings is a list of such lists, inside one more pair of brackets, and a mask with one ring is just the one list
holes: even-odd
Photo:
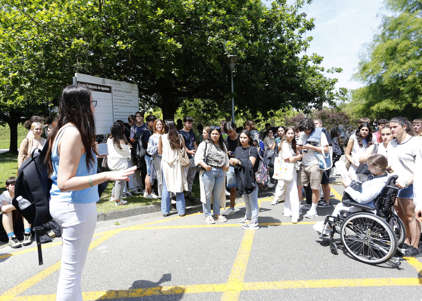
[(227, 289), (221, 296), (222, 301), (239, 300), (240, 292), (243, 290), (243, 281), (252, 250), (254, 235), (254, 230), (246, 230), (243, 234), (238, 253), (236, 254), (232, 270), (227, 280)]

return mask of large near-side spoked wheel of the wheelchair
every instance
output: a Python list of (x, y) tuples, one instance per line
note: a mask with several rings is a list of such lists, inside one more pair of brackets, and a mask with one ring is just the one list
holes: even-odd
[(391, 226), (370, 213), (357, 212), (346, 217), (340, 239), (350, 255), (369, 264), (389, 261), (397, 249), (397, 237)]

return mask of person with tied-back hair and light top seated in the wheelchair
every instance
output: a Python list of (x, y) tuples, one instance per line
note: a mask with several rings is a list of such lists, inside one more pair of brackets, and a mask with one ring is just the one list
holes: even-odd
[[(351, 181), (343, 179), (341, 183), (346, 187), (344, 191), (347, 192), (355, 202), (374, 207), (374, 200), (387, 183), (387, 172), (392, 173), (393, 170), (388, 166), (387, 158), (380, 154), (369, 156), (366, 162), (371, 174), (368, 176), (368, 181), (362, 183), (362, 191), (354, 190), (350, 186)], [(337, 216), (341, 211), (357, 212), (362, 210), (354, 206), (348, 207), (343, 203), (338, 203), (331, 215)], [(373, 213), (375, 213), (375, 210)], [(322, 236), (330, 235), (331, 227), (328, 223), (324, 227), (324, 222), (319, 221), (313, 228), (317, 230), (318, 233), (321, 233)]]

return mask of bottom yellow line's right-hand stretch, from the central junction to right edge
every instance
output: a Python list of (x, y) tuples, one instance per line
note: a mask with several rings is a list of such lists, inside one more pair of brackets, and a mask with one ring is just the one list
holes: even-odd
[(298, 288), (353, 288), (378, 286), (418, 286), (419, 278), (356, 278), (356, 279), (316, 279), (285, 280), (269, 282), (248, 282), (244, 290), (285, 290)]

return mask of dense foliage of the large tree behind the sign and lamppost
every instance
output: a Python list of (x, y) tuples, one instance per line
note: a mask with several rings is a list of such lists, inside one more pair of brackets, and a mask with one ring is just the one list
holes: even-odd
[[(53, 99), (78, 72), (136, 83), (141, 103), (160, 107), (164, 118), (182, 104), (219, 116), (230, 112), (227, 54), (239, 57), (239, 112), (268, 116), (281, 107), (310, 110), (344, 97), (344, 89), (334, 89), (336, 80), (323, 75), (341, 69), (324, 70), (321, 56), (301, 55), (311, 40), (303, 33), (314, 28), (313, 19), (297, 16), (303, 0), (276, 0), (269, 8), (259, 0), (0, 1), (17, 16), (2, 19), (1, 30), (15, 37), (27, 31), (33, 41), (24, 56), (36, 70), (24, 83), (43, 83), (44, 96)], [(0, 35), (0, 52), (5, 41)]]

